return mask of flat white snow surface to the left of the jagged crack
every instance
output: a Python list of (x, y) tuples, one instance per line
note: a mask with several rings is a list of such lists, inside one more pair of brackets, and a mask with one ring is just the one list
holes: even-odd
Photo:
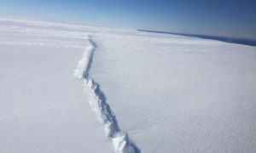
[(73, 77), (77, 27), (0, 20), (0, 152), (113, 152)]

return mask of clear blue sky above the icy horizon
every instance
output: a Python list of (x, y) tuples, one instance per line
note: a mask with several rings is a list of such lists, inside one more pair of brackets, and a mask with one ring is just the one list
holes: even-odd
[(256, 40), (255, 0), (0, 0), (0, 15)]

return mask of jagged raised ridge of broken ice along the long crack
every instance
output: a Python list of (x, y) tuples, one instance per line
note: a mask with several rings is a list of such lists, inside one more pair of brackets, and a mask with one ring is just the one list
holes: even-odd
[(90, 107), (96, 113), (98, 120), (103, 124), (105, 133), (108, 139), (111, 140), (114, 150), (117, 153), (140, 153), (141, 150), (129, 139), (128, 133), (120, 129), (100, 85), (89, 77), (96, 43), (90, 36), (84, 37), (84, 39), (90, 42), (90, 45), (85, 48), (83, 57), (74, 71), (74, 76), (84, 81), (84, 91), (88, 94)]

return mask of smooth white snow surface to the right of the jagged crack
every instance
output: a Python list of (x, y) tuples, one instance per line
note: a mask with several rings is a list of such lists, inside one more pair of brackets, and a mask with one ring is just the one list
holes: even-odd
[(256, 48), (108, 33), (90, 76), (142, 152), (255, 152)]

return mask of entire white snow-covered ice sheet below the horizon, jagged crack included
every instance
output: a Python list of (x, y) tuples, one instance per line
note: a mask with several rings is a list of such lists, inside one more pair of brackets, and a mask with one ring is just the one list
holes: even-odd
[(0, 23), (0, 152), (256, 152), (255, 47)]

